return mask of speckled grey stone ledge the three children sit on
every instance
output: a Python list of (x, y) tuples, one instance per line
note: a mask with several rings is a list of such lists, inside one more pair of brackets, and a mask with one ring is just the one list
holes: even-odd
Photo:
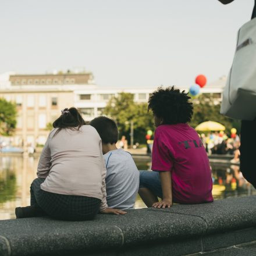
[(256, 196), (94, 221), (0, 221), (0, 255), (184, 255), (256, 240)]

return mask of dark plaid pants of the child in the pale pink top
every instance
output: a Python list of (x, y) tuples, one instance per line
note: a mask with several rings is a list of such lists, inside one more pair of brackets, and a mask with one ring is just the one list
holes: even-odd
[(30, 205), (38, 207), (52, 218), (66, 221), (93, 219), (99, 211), (101, 200), (82, 195), (63, 195), (41, 190), (45, 179), (37, 178), (30, 187)]

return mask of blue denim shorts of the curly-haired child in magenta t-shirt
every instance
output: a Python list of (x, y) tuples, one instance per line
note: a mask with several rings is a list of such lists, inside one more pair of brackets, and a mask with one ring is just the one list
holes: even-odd
[(158, 172), (140, 170), (140, 189), (147, 188), (154, 195), (163, 198), (161, 180)]

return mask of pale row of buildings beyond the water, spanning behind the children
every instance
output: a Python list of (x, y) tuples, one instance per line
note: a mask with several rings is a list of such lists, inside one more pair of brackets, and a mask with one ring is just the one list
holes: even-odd
[[(2, 77), (7, 77), (6, 74)], [(225, 78), (201, 89), (221, 101)], [(8, 144), (17, 147), (44, 145), (49, 127), (64, 108), (75, 106), (87, 121), (102, 115), (109, 99), (121, 92), (134, 95), (134, 101), (147, 102), (156, 87), (97, 87), (91, 73), (10, 74), (9, 81), (0, 76), (0, 98), (15, 102), (17, 125)], [(183, 88), (188, 90), (188, 88)], [(5, 138), (7, 139), (7, 138)]]

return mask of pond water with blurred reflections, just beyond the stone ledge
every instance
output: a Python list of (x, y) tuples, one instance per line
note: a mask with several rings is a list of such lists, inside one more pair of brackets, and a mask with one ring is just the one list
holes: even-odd
[[(150, 162), (144, 159), (135, 162), (138, 169), (150, 169)], [(37, 163), (38, 158), (34, 157), (0, 157), (0, 219), (13, 219), (15, 207), (30, 204), (30, 184), (36, 177)], [(241, 175), (239, 166), (214, 164), (211, 168), (215, 199), (256, 194)], [(145, 204), (138, 196), (135, 208), (143, 207)]]

